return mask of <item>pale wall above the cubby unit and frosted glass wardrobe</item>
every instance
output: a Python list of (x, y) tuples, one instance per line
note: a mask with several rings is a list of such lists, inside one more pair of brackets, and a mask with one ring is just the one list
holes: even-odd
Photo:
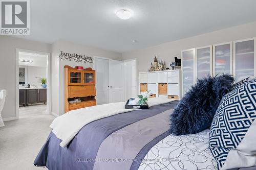
[[(126, 52), (122, 54), (122, 60), (137, 58), (138, 79), (139, 72), (147, 71), (151, 62), (153, 62), (153, 57), (155, 56), (157, 56), (159, 60), (165, 60), (167, 62), (167, 67), (169, 67), (169, 64), (174, 62), (174, 57), (181, 57), (181, 50), (251, 37), (256, 37), (256, 22), (189, 37), (186, 39), (167, 42), (144, 48), (142, 50)], [(139, 86), (137, 86), (137, 92), (138, 91)]]

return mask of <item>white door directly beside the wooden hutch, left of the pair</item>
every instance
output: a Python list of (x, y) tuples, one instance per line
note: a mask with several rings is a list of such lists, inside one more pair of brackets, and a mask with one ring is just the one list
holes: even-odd
[(109, 60), (95, 58), (97, 105), (109, 103)]

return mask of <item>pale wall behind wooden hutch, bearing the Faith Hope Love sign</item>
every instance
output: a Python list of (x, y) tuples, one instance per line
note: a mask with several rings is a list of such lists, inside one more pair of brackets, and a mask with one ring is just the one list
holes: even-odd
[(100, 56), (100, 57), (111, 58), (115, 60), (121, 60), (120, 53), (115, 53), (115, 52), (106, 51), (106, 50), (102, 50), (95, 47), (75, 44), (75, 43), (71, 43), (63, 40), (56, 41), (53, 44), (53, 48), (52, 48), (52, 60), (55, 63), (58, 62), (58, 66), (53, 65), (53, 67), (55, 68), (52, 67), (52, 71), (53, 71), (52, 79), (56, 79), (56, 80), (52, 80), (52, 88), (54, 88), (52, 89), (52, 95), (54, 95), (52, 99), (52, 111), (57, 115), (61, 115), (64, 113), (64, 66), (69, 65), (71, 67), (83, 66), (84, 68), (87, 68), (87, 67), (93, 68), (93, 63), (75, 62), (73, 60), (69, 61), (69, 60), (59, 59), (60, 51), (63, 51), (65, 53), (71, 53), (71, 54), (76, 53), (80, 55), (86, 55), (89, 57)]

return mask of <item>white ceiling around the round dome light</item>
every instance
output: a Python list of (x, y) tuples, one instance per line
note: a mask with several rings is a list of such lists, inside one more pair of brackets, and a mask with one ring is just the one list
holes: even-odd
[[(255, 0), (36, 0), (30, 4), (31, 35), (23, 38), (47, 43), (63, 39), (116, 52), (256, 21)], [(131, 10), (132, 18), (119, 19), (115, 15), (119, 9)]]

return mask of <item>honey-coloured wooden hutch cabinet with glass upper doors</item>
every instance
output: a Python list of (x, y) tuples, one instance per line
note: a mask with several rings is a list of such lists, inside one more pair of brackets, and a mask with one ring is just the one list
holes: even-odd
[[(95, 70), (65, 67), (65, 113), (96, 105)], [(74, 102), (75, 100), (79, 102)]]

